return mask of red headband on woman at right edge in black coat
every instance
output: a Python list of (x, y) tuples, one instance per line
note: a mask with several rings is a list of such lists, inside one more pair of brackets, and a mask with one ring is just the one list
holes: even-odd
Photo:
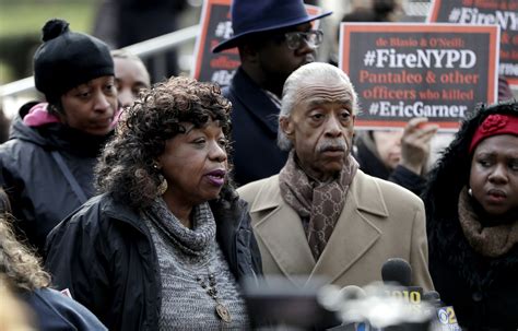
[(518, 135), (518, 117), (498, 114), (487, 116), (473, 134), (470, 153), (482, 140), (497, 134)]

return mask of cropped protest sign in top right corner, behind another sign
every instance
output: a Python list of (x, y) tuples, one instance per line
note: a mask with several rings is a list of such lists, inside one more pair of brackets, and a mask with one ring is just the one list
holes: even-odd
[(435, 0), (427, 21), (497, 24), (501, 27), (498, 74), (518, 87), (518, 0)]

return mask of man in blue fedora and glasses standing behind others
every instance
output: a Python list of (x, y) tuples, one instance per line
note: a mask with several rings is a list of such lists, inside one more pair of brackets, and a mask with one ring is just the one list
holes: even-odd
[(224, 95), (233, 104), (234, 179), (238, 185), (278, 174), (287, 153), (276, 146), (282, 86), (298, 67), (316, 60), (322, 32), (302, 0), (233, 0), (234, 36), (213, 52), (238, 48), (242, 66)]

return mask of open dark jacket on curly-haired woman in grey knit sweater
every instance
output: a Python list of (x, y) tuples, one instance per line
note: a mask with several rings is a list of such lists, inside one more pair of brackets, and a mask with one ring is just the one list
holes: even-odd
[[(262, 273), (246, 202), (212, 205), (216, 239), (237, 279)], [(54, 283), (109, 330), (157, 330), (161, 280), (155, 248), (138, 212), (110, 196), (92, 198), (49, 235)]]

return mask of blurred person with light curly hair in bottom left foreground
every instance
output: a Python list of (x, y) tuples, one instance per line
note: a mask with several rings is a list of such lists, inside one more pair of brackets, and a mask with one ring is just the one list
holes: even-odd
[(9, 311), (0, 314), (0, 329), (14, 330), (5, 323), (16, 321), (27, 329), (15, 330), (106, 330), (86, 308), (49, 287), (50, 275), (14, 236), (9, 205), (0, 189), (0, 311)]

